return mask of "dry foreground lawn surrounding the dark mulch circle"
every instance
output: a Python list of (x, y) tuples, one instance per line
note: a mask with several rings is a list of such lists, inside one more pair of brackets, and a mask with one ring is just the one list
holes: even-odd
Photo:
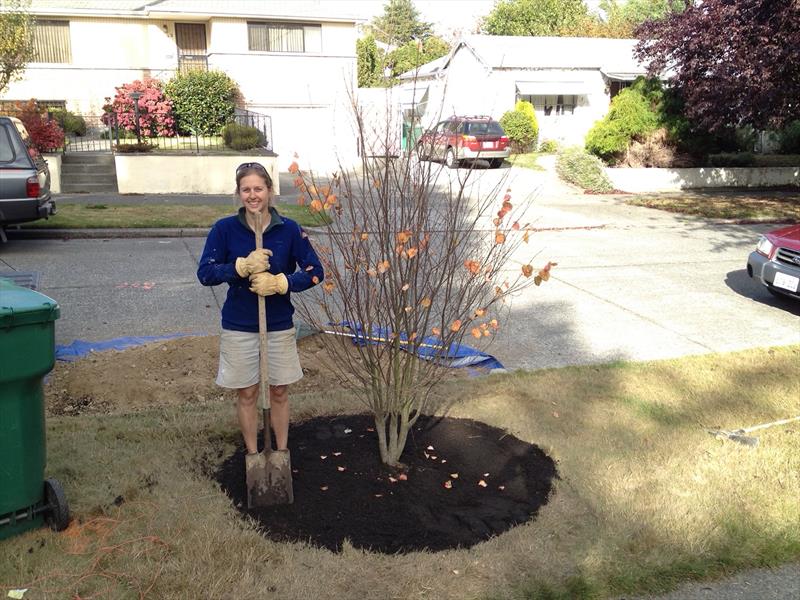
[[(797, 560), (800, 426), (759, 430), (756, 447), (709, 429), (800, 414), (798, 361), (800, 346), (789, 346), (446, 382), (439, 413), (538, 445), (559, 479), (535, 520), (442, 552), (345, 545), (334, 553), (265, 539), (210, 477), (240, 444), (221, 397), (159, 406), (156, 393), (139, 399), (150, 407), (137, 413), (50, 417), (47, 475), (64, 484), (75, 520), (61, 534), (4, 541), (0, 590), (29, 588), (31, 598), (606, 598)], [(360, 410), (335, 389), (298, 393), (292, 403), (295, 420)]]

